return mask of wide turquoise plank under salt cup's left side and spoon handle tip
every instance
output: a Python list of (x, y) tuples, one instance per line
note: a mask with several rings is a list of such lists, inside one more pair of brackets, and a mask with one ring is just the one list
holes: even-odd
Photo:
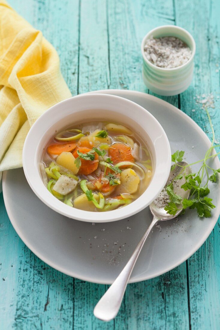
[[(108, 17), (110, 88), (147, 92), (141, 77), (141, 40), (150, 29), (175, 22), (173, 2), (151, 1), (150, 6), (146, 1), (109, 2)], [(178, 107), (177, 96), (162, 98)], [(115, 318), (116, 329), (187, 329), (188, 326), (185, 263), (153, 280), (129, 285)]]

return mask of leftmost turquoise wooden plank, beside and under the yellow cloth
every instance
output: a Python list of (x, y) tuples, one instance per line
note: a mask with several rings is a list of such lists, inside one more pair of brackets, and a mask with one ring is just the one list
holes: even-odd
[[(10, 5), (43, 30), (59, 53), (64, 79), (77, 94), (79, 2), (12, 0)], [(2, 195), (0, 198), (1, 247), (7, 247), (1, 250), (1, 327), (72, 328), (74, 280), (45, 265), (25, 247), (9, 222)]]

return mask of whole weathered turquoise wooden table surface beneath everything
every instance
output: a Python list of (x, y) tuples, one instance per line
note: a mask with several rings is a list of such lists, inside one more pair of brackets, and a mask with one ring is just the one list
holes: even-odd
[[(140, 44), (152, 28), (176, 24), (195, 38), (194, 79), (166, 101), (209, 135), (196, 95), (215, 95), (212, 116), (220, 141), (219, 0), (9, 0), (57, 49), (73, 95), (119, 88), (149, 93), (141, 78)], [(192, 109), (196, 111), (192, 112)], [(160, 277), (130, 284), (120, 313), (104, 323), (93, 308), (107, 285), (66, 276), (20, 240), (0, 195), (0, 329), (219, 329), (220, 224), (186, 262)]]

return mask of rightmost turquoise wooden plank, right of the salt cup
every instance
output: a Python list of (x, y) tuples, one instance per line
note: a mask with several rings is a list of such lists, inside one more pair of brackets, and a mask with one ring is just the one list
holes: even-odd
[[(207, 116), (195, 104), (196, 95), (213, 93), (215, 109), (210, 109), (216, 140), (220, 136), (219, 114), (219, 12), (220, 3), (175, 1), (176, 22), (195, 38), (196, 56), (192, 85), (181, 94), (181, 109), (191, 116), (211, 137)], [(199, 10), (198, 10), (199, 9)], [(189, 15), (193, 13), (193, 15)], [(216, 72), (217, 71), (217, 72)], [(192, 112), (195, 109), (195, 112)], [(198, 219), (198, 221), (201, 221)], [(219, 223), (204, 245), (188, 261), (191, 329), (218, 329), (220, 323), (220, 240)]]

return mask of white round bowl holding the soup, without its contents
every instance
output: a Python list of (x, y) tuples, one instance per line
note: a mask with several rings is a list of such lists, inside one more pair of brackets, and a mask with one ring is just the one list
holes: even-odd
[[(112, 120), (132, 127), (148, 145), (153, 159), (153, 178), (144, 193), (125, 207), (109, 212), (88, 212), (71, 208), (56, 199), (44, 185), (39, 162), (47, 141), (74, 122)], [(48, 109), (31, 127), (23, 147), (23, 168), (34, 193), (52, 210), (87, 222), (109, 222), (136, 214), (148, 206), (163, 189), (171, 167), (171, 149), (160, 123), (144, 108), (122, 97), (82, 94)]]

